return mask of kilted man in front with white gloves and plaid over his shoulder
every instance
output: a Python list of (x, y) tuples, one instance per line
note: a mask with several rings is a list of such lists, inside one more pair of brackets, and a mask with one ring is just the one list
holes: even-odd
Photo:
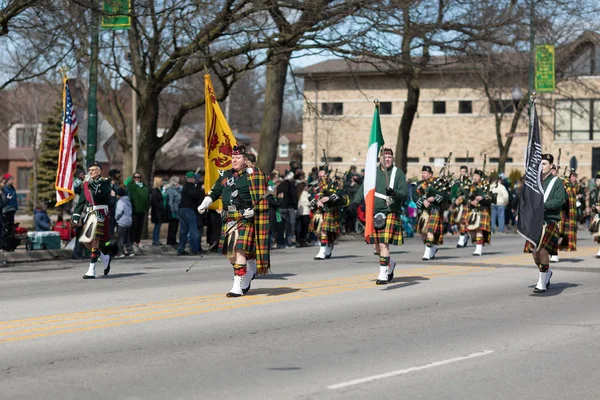
[[(270, 269), (267, 181), (258, 169), (247, 168), (247, 162), (246, 147), (235, 146), (231, 156), (233, 168), (223, 172), (198, 207), (203, 214), (215, 200), (223, 199), (219, 251), (226, 255), (234, 274), (227, 297), (242, 296), (250, 290), (255, 274), (264, 275)], [(247, 261), (251, 259), (256, 259), (256, 271), (254, 263), (248, 270)]]

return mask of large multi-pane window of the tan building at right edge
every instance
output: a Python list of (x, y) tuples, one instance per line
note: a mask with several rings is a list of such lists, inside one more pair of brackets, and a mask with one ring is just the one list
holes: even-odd
[(600, 101), (556, 100), (555, 140), (600, 140)]

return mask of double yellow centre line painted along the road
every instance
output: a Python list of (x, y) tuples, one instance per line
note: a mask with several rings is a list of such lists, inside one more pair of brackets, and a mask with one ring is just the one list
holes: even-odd
[[(427, 266), (396, 270), (397, 277), (421, 276), (434, 278), (464, 275), (493, 267)], [(242, 307), (273, 304), (282, 301), (326, 296), (353, 290), (373, 288), (373, 274), (356, 275), (346, 278), (334, 278), (293, 285), (290, 288), (273, 289), (267, 294), (248, 295), (229, 299), (223, 294), (187, 297), (182, 299), (149, 302), (123, 307), (111, 307), (100, 310), (48, 315), (12, 321), (0, 321), (0, 342), (14, 342), (47, 336), (84, 332), (94, 329), (111, 328), (138, 324), (149, 321), (199, 315), (209, 312), (225, 311)], [(393, 284), (401, 283), (396, 279)], [(261, 289), (256, 289), (260, 291)], [(286, 293), (287, 290), (297, 290)], [(252, 292), (250, 292), (251, 294)], [(275, 296), (273, 296), (275, 295)]]

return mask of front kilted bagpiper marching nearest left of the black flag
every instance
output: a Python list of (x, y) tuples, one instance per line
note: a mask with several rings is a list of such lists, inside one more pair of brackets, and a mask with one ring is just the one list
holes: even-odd
[(467, 228), (471, 240), (475, 243), (474, 256), (480, 256), (484, 244), (492, 242), (491, 197), (489, 184), (483, 180), (483, 171), (473, 172), (473, 183), (469, 187), (469, 217)]

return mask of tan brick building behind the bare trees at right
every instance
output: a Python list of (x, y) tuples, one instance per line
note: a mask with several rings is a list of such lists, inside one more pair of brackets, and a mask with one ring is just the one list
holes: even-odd
[[(556, 155), (560, 147), (563, 166), (575, 157), (580, 178), (590, 178), (600, 171), (599, 43), (597, 34), (586, 33), (570, 45), (557, 48), (557, 90), (538, 95), (543, 151)], [(501, 131), (505, 139), (518, 100), (515, 92), (525, 92), (527, 87), (527, 61), (520, 56), (525, 61), (519, 61), (519, 68), (504, 71), (502, 90), (492, 101), (470, 65), (445, 57), (433, 60), (438, 67), (426, 70), (419, 79), (418, 113), (408, 148), (408, 177), (418, 176), (425, 164), (439, 170), (450, 151), (458, 158), (455, 166), (465, 163), (469, 151), (472, 167), (481, 168), (487, 154), (487, 172), (497, 169), (499, 150), (492, 107), (504, 109)], [(384, 72), (372, 61), (327, 60), (295, 71), (295, 75), (304, 79), (307, 99), (303, 124), (305, 169), (322, 162), (322, 149), (326, 149), (334, 168), (364, 165), (376, 98), (381, 102), (386, 146), (396, 147), (407, 98), (405, 81), (398, 74)], [(527, 130), (525, 112), (508, 154), (506, 174), (523, 171)]]

